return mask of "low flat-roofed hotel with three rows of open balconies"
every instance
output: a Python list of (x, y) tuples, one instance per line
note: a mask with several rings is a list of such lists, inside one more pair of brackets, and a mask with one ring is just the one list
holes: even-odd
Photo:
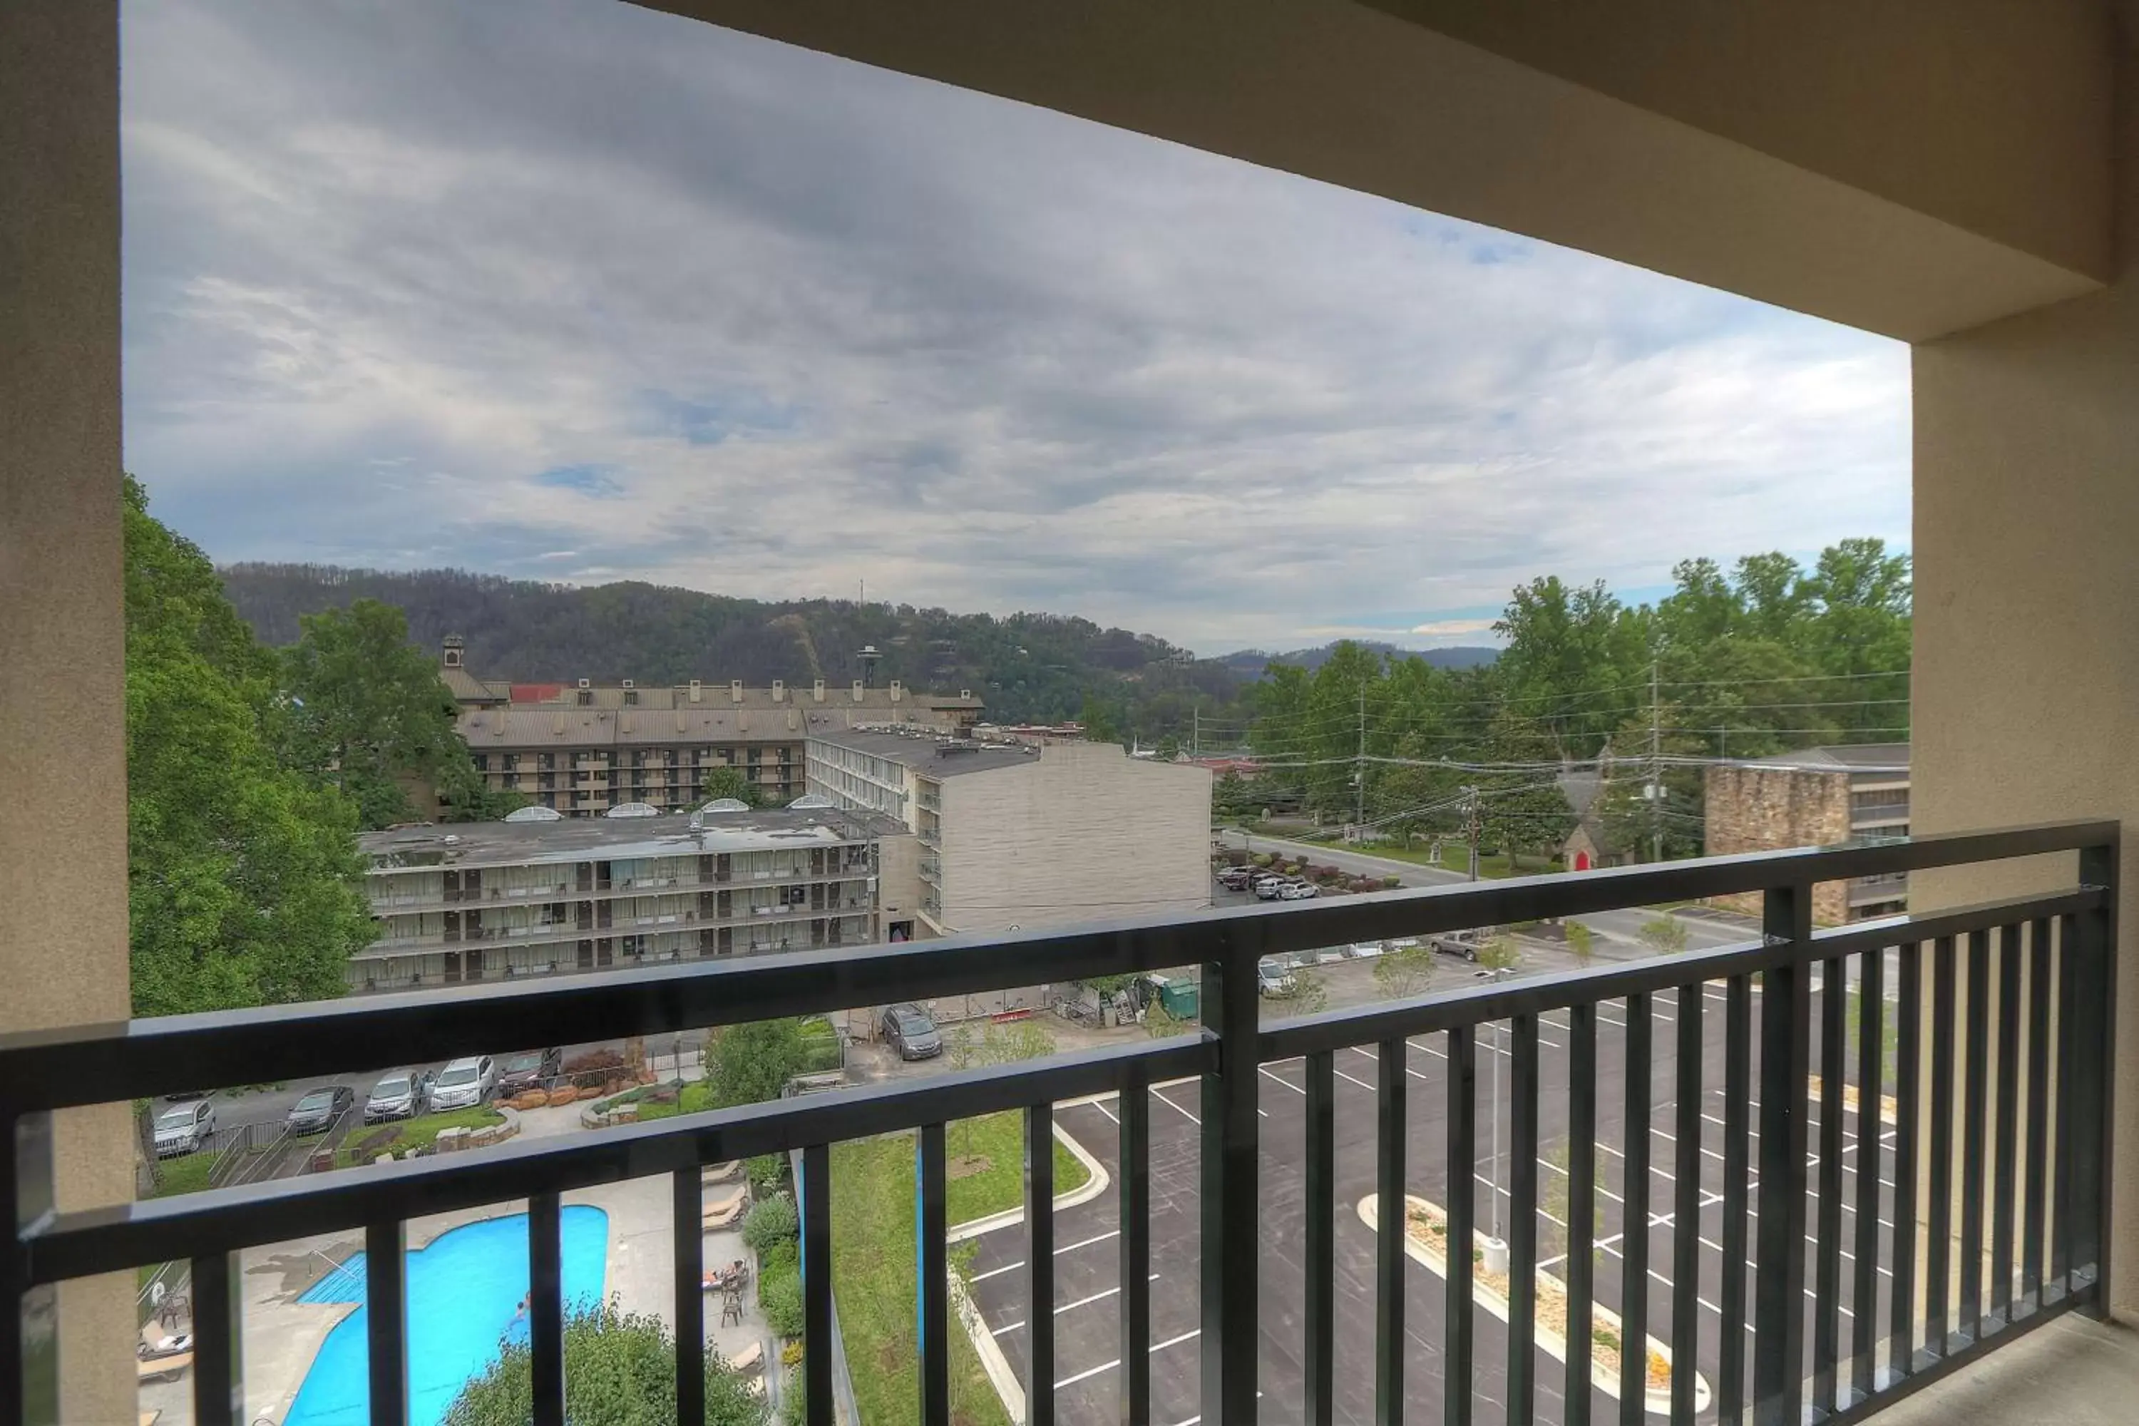
[(368, 832), (366, 892), (381, 934), (351, 990), (599, 971), (704, 956), (864, 945), (911, 934), (877, 896), (890, 817), (830, 806)]

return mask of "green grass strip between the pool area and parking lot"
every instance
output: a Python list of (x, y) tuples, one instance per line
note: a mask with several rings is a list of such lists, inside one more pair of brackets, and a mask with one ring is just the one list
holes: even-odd
[[(1025, 1195), (1020, 1114), (950, 1125), (943, 1150), (952, 1172), (986, 1161), (950, 1180), (952, 1225), (1014, 1208)], [(1084, 1165), (1057, 1140), (1055, 1191), (1067, 1193), (1084, 1178)], [(913, 1135), (832, 1148), (832, 1289), (862, 1420), (879, 1426), (918, 1420)], [(960, 1426), (1010, 1426), (963, 1326), (952, 1330), (950, 1417)]]

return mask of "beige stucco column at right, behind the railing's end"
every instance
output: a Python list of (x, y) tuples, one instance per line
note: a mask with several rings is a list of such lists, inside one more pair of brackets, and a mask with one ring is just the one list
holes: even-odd
[[(2124, 77), (2130, 79), (2126, 64)], [(2139, 105), (2098, 295), (1917, 346), (1912, 825), (2118, 817), (2111, 1300), (2139, 1315)], [(2071, 879), (2071, 868), (2060, 868)], [(1976, 900), (2041, 868), (1923, 879)], [(1921, 896), (1917, 900), (1923, 900)]]

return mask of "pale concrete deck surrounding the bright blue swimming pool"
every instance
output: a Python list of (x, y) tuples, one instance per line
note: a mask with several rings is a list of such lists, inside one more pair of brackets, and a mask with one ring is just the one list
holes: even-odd
[[(588, 1204), (610, 1214), (610, 1251), (603, 1270), (603, 1289), (627, 1313), (659, 1317), (670, 1328), (674, 1321), (674, 1219), (670, 1206), (667, 1178), (642, 1178), (582, 1193), (567, 1193), (567, 1204)], [(438, 1234), (466, 1223), (524, 1212), (524, 1204), (496, 1204), (464, 1212), (436, 1214), (409, 1223), (409, 1246), (421, 1249)], [(364, 1249), (364, 1234), (327, 1234), (282, 1242), (267, 1249), (246, 1251), (242, 1257), (244, 1298), (244, 1379), (246, 1420), (282, 1422), (297, 1400), (297, 1388), (312, 1366), (321, 1343), (342, 1317), (355, 1311), (353, 1302), (299, 1302), (297, 1298), (314, 1287), (332, 1266), (347, 1261)], [(708, 1264), (723, 1264), (749, 1257), (738, 1231), (706, 1234), (704, 1253)], [(761, 1343), (766, 1358), (772, 1358), (772, 1338), (757, 1315), (757, 1298), (751, 1293), (744, 1323), (717, 1328), (719, 1300), (706, 1298), (706, 1340), (721, 1355), (736, 1355), (751, 1343)], [(160, 1411), (158, 1426), (188, 1426), (193, 1422), (193, 1377), (180, 1381), (148, 1383), (141, 1388), (141, 1409)]]

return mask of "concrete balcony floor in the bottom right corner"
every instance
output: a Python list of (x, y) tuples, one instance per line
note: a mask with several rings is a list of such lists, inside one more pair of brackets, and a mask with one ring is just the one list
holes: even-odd
[(1867, 1417), (1867, 1426), (2128, 1426), (2133, 1420), (2139, 1420), (2139, 1330), (2075, 1313)]

